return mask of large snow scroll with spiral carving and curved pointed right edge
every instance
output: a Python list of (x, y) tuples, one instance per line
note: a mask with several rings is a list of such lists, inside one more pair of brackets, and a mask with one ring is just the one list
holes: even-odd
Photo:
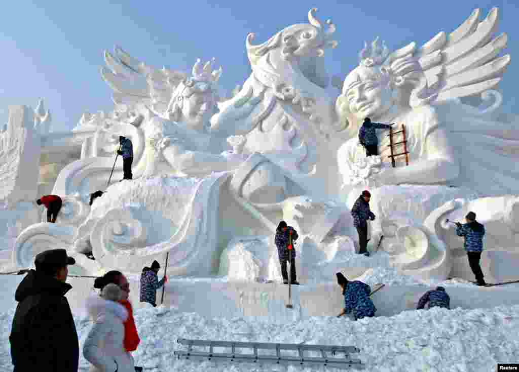
[(169, 252), (168, 274), (209, 275), (218, 245), (218, 195), (228, 176), (215, 174), (196, 183), (155, 178), (114, 185), (80, 226), (75, 249), (84, 251), (90, 244), (103, 268), (128, 273), (139, 273), (153, 260), (163, 262)]

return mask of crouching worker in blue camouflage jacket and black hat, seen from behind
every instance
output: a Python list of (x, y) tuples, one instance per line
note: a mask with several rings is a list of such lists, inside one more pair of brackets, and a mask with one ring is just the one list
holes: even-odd
[(348, 281), (341, 273), (337, 273), (337, 283), (343, 289), (344, 309), (337, 318), (349, 314), (353, 310), (355, 320), (374, 317), (377, 308), (371, 301), (371, 287), (359, 280)]

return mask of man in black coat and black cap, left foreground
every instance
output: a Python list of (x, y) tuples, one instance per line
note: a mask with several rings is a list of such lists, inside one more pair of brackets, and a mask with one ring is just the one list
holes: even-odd
[(65, 283), (67, 265), (76, 262), (64, 249), (51, 249), (36, 256), (18, 286), (18, 302), (9, 336), (14, 372), (35, 370), (77, 372), (79, 342), (69, 302), (72, 285)]

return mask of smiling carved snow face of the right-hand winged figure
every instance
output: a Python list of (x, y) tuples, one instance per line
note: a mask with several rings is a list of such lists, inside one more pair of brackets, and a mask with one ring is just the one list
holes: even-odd
[(343, 96), (349, 112), (357, 119), (377, 118), (394, 104), (389, 77), (378, 67), (359, 66), (344, 81)]

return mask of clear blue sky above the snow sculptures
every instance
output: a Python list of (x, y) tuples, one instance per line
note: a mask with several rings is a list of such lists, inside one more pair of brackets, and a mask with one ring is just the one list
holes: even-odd
[(319, 9), (321, 20), (332, 18), (339, 45), (327, 52), (331, 74), (346, 74), (357, 65), (364, 40), (385, 39), (390, 49), (416, 41), (419, 45), (440, 31), (451, 32), (481, 8), (483, 16), (497, 6), (500, 32), (509, 36), (512, 62), (500, 88), (507, 112), (515, 105), (519, 69), (519, 5), (517, 0), (352, 0), (298, 1), (9, 1), (0, 22), (0, 123), (7, 106), (35, 107), (43, 97), (53, 113), (53, 130), (76, 125), (85, 111), (109, 111), (111, 90), (101, 79), (103, 50), (120, 45), (149, 65), (189, 70), (197, 58), (213, 56), (223, 66), (221, 87), (230, 91), (251, 70), (245, 36), (263, 42), (282, 28), (307, 23), (307, 12)]

